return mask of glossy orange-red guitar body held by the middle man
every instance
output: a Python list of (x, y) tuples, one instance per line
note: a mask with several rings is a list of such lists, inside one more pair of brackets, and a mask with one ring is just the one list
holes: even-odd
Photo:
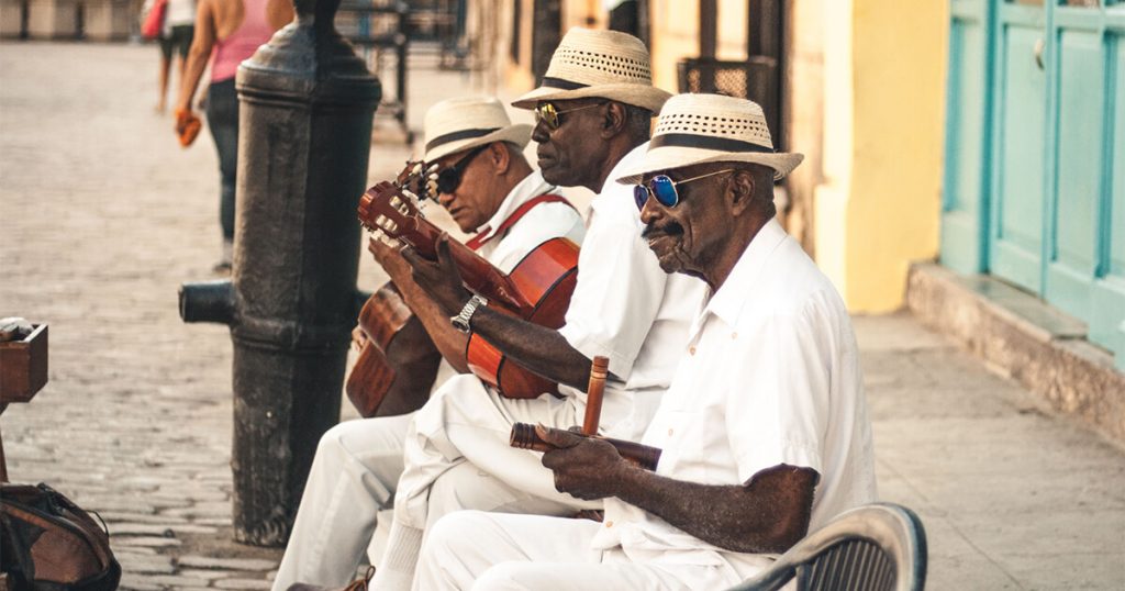
[[(529, 252), (508, 277), (520, 295), (532, 303), (531, 312), (523, 315), (523, 320), (558, 329), (566, 319), (578, 280), (578, 247), (562, 238), (548, 240)], [(544, 392), (558, 394), (558, 384), (510, 359), (478, 334), (469, 337), (466, 358), (469, 369), (505, 397), (536, 399)]]

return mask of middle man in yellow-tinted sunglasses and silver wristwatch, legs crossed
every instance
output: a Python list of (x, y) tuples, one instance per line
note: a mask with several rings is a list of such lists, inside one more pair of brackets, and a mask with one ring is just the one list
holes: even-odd
[(644, 156), (651, 114), (667, 97), (651, 86), (648, 50), (640, 39), (576, 28), (555, 51), (542, 87), (514, 104), (534, 109), (532, 138), (539, 143), (543, 178), (596, 194), (561, 329), (514, 319), (470, 297), (440, 243), (438, 263), (404, 254), (416, 281), (449, 315), (464, 319), (506, 355), (558, 382), (564, 396), (512, 401), (462, 377), (430, 399), (406, 440), (390, 546), (375, 580), (381, 585), (397, 573), (397, 581), (377, 589), (410, 583), (422, 531), (432, 522), (425, 499), (443, 485), (447, 471), (459, 466), (474, 466), (539, 500), (549, 508), (538, 511), (542, 514), (601, 509), (601, 502), (559, 493), (538, 455), (511, 448), (508, 433), (513, 422), (564, 429), (580, 423), (595, 356), (610, 361), (600, 423), (609, 436), (639, 437), (667, 388), (704, 286), (660, 269), (640, 238), (630, 188), (608, 183), (614, 170)]

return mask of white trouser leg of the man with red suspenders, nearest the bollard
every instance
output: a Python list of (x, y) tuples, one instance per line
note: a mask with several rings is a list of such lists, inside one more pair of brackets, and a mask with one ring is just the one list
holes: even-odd
[(321, 437), (274, 591), (353, 579), (402, 474), (410, 421), (410, 414), (345, 421)]

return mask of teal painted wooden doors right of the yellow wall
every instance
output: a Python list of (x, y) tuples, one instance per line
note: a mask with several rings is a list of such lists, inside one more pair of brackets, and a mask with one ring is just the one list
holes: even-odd
[(1125, 369), (1125, 2), (951, 2), (942, 259), (1089, 325)]

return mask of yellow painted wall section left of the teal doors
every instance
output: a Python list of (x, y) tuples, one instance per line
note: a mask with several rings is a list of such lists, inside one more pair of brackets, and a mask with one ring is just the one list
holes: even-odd
[(910, 261), (937, 253), (947, 10), (945, 0), (826, 2), (817, 260), (854, 312), (900, 307)]

